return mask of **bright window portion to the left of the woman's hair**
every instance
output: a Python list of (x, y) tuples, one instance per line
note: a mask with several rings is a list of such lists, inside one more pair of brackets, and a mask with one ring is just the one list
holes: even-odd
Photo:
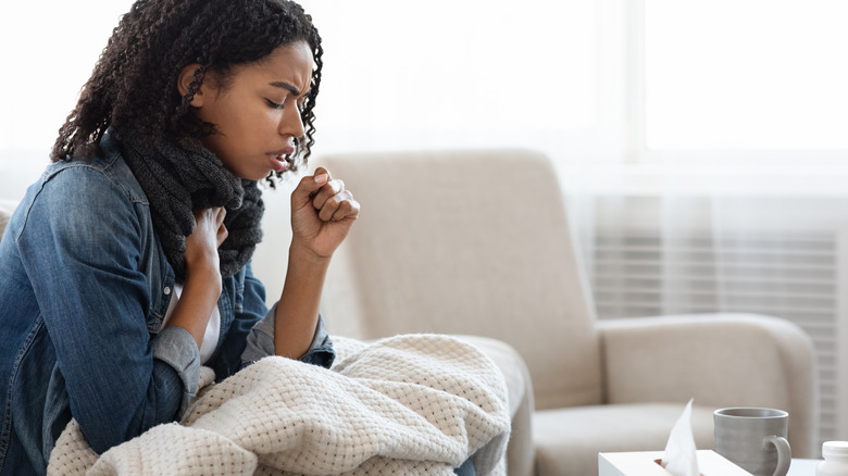
[(52, 147), (112, 28), (132, 3), (0, 3), (0, 151)]

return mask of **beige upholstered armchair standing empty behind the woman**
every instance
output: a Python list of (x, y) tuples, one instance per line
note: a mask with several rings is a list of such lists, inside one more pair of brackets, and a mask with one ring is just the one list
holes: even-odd
[(336, 333), (476, 335), (523, 358), (533, 391), (512, 406), (535, 411), (513, 417), (510, 475), (596, 475), (600, 451), (661, 450), (690, 398), (699, 448), (713, 446), (713, 410), (761, 405), (789, 412), (794, 456), (815, 453), (809, 337), (759, 315), (597, 321), (546, 156), (421, 151), (314, 163), (362, 204), (325, 286)]

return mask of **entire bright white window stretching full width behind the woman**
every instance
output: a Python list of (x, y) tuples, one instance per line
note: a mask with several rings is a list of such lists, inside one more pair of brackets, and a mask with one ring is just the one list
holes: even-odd
[[(0, 4), (0, 163), (4, 150), (49, 150), (130, 4)], [(302, 4), (324, 37), (322, 151), (388, 141), (621, 156), (633, 152), (624, 136), (637, 159), (848, 150), (844, 0)]]

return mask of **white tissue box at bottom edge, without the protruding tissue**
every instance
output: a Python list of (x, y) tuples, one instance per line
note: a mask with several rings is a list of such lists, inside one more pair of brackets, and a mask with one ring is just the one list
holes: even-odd
[[(660, 466), (662, 451), (598, 453), (598, 476), (671, 476)], [(702, 476), (752, 476), (712, 450), (698, 450)]]

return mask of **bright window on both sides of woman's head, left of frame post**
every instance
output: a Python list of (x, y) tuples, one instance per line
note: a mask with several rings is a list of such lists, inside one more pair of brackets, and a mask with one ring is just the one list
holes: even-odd
[[(532, 147), (597, 122), (597, 0), (301, 3), (324, 38), (321, 151)], [(0, 59), (16, 74), (0, 76), (0, 163), (49, 150), (130, 4), (2, 3)]]

